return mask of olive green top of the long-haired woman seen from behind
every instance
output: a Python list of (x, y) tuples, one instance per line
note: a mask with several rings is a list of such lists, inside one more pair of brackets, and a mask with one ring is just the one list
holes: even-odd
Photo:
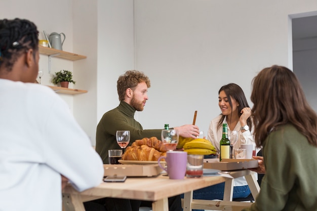
[(317, 210), (317, 148), (291, 125), (279, 126), (263, 147), (266, 174), (247, 210)]

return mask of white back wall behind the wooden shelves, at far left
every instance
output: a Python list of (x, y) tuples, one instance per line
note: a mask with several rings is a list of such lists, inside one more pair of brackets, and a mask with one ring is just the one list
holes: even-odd
[[(63, 44), (63, 50), (71, 51), (72, 49), (72, 16), (70, 1), (57, 0), (55, 4), (50, 5), (50, 1), (42, 1), (43, 5), (39, 4), (38, 0), (22, 1), (11, 0), (1, 1), (0, 18), (22, 18), (33, 21), (39, 31), (39, 39), (45, 39), (43, 30), (48, 34), (52, 32), (63, 32), (66, 34), (66, 39)], [(60, 7), (63, 5), (63, 7)], [(26, 8), (34, 11), (26, 10)], [(58, 13), (56, 12), (58, 11)], [(52, 58), (51, 72), (59, 71), (61, 69), (73, 70), (72, 62), (67, 60)], [(42, 84), (48, 85), (51, 80), (51, 74), (48, 72), (48, 57), (40, 55), (39, 69), (43, 70)], [(52, 83), (51, 83), (52, 85)], [(72, 108), (71, 98), (64, 97)]]

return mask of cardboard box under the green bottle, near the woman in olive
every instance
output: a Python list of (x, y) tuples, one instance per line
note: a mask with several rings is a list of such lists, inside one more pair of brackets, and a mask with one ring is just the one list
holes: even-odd
[(256, 159), (204, 159), (204, 168), (212, 168), (221, 171), (242, 170), (259, 166)]

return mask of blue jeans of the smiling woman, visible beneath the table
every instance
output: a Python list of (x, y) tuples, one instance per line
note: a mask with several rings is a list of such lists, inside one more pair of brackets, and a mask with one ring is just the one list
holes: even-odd
[[(206, 188), (198, 189), (193, 191), (193, 199), (205, 199), (205, 200), (214, 200), (219, 199), (223, 200), (224, 192), (224, 183), (220, 183), (213, 186), (208, 186)], [(251, 191), (248, 185), (245, 186), (234, 186), (233, 187), (233, 196), (232, 198), (245, 198), (250, 195)], [(184, 194), (181, 195), (181, 198), (184, 198)], [(203, 209), (192, 209), (192, 211), (201, 211)]]

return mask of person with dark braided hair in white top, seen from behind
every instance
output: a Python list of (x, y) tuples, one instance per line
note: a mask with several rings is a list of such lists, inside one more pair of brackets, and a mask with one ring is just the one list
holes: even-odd
[(67, 104), (50, 88), (34, 83), (37, 36), (28, 20), (0, 20), (2, 211), (62, 210), (61, 189), (68, 181), (83, 191), (103, 177), (101, 158)]

